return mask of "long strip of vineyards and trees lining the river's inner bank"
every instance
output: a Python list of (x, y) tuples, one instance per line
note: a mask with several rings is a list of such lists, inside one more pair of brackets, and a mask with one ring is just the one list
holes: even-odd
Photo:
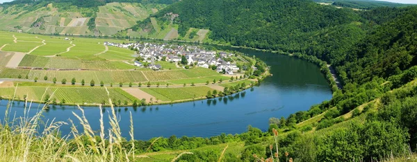
[[(2, 82), (0, 84), (0, 96), (3, 96), (2, 98), (4, 99), (22, 102), (27, 100), (28, 102), (48, 103), (49, 105), (80, 105), (83, 107), (109, 107), (111, 106), (110, 101), (108, 101), (109, 98), (111, 98), (113, 105), (122, 107), (172, 105), (174, 103), (229, 96), (245, 91), (258, 84), (259, 80), (267, 77), (268, 73), (265, 73), (257, 80), (250, 78), (238, 79), (237, 76), (234, 76), (236, 80), (224, 80), (223, 82), (218, 81), (209, 84), (188, 84), (186, 86), (171, 84), (166, 87), (165, 85), (156, 84), (150, 86), (144, 84), (141, 87), (138, 87), (137, 84), (134, 87), (109, 87), (108, 84), (104, 84), (103, 87), (91, 87), (88, 85), (82, 86), (81, 84), (51, 84), (44, 80), (27, 82), (27, 80), (21, 79), (7, 79), (6, 82), (0, 80)], [(126, 89), (140, 91), (142, 95), (134, 95)], [(224, 89), (230, 90), (224, 91)], [(154, 93), (149, 93), (149, 91)], [(212, 93), (212, 96), (207, 96), (208, 91)], [(144, 98), (143, 93), (150, 97)], [(77, 100), (83, 102), (77, 102)]]

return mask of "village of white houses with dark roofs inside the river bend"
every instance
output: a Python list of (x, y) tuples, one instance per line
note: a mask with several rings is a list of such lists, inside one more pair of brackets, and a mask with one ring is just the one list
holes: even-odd
[[(206, 51), (197, 46), (155, 44), (149, 42), (129, 44), (104, 42), (104, 45), (130, 48), (136, 51), (135, 57), (138, 59), (133, 64), (155, 71), (163, 69), (161, 64), (157, 64), (159, 61), (172, 62), (177, 64), (177, 66), (182, 66), (184, 69), (189, 66), (199, 66), (229, 75), (233, 75), (240, 70), (236, 62), (233, 62), (231, 59), (234, 56), (233, 53), (216, 53), (216, 51)], [(186, 64), (181, 64), (183, 57), (185, 57)]]

